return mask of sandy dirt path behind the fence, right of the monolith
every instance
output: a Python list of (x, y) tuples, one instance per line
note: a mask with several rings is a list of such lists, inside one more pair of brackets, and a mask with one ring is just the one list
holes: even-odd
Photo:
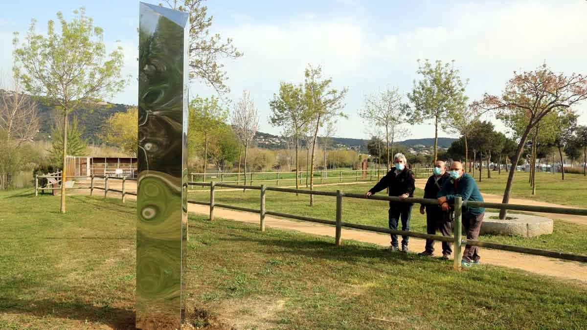
[[(200, 214), (210, 214), (210, 207), (190, 204), (188, 211)], [(259, 224), (259, 215), (255, 213), (225, 210), (215, 208), (216, 217), (241, 221), (244, 223)], [(265, 216), (266, 227), (282, 230), (297, 230), (302, 233), (325, 235), (334, 237), (335, 229), (329, 225), (308, 223), (305, 221), (294, 221), (281, 218)], [(389, 246), (389, 235), (371, 233), (369, 231), (342, 229), (344, 240), (356, 240), (368, 243), (375, 243), (382, 246)], [(424, 240), (410, 237), (410, 251), (424, 251)], [(440, 254), (440, 243), (436, 243), (436, 254)], [(565, 278), (587, 284), (587, 265), (581, 262), (560, 261), (552, 258), (540, 257), (538, 255), (520, 254), (515, 252), (481, 249), (481, 262), (484, 264), (498, 265), (508, 268), (534, 272), (536, 274)]]

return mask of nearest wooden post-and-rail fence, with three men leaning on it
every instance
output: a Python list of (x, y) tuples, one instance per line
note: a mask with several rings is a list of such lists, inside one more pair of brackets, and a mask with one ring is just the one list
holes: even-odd
[[(104, 187), (95, 186), (95, 184), (94, 184), (95, 178), (104, 179)], [(89, 187), (90, 196), (93, 194), (94, 189), (104, 190), (104, 198), (107, 197), (107, 194), (109, 191), (120, 193), (120, 194), (122, 194), (122, 203), (124, 203), (124, 199), (125, 199), (126, 195), (137, 196), (136, 193), (131, 193), (129, 191), (126, 191), (125, 186), (124, 186), (124, 183), (126, 183), (126, 181), (137, 181), (137, 179), (126, 178), (126, 177), (119, 178), (119, 177), (109, 177), (109, 176), (92, 176), (91, 180), (92, 181), (91, 181), (90, 187)], [(108, 187), (109, 180), (122, 180), (122, 190), (109, 188)], [(495, 250), (519, 252), (519, 253), (532, 254), (532, 255), (541, 255), (543, 257), (557, 258), (557, 259), (562, 259), (562, 260), (587, 262), (587, 255), (540, 250), (540, 249), (536, 249), (536, 248), (519, 247), (517, 245), (491, 243), (491, 242), (479, 241), (479, 240), (468, 240), (467, 238), (463, 238), (462, 234), (461, 234), (462, 233), (461, 216), (462, 216), (463, 207), (485, 207), (485, 208), (497, 208), (500, 210), (505, 209), (505, 210), (514, 210), (514, 211), (528, 211), (528, 212), (535, 212), (535, 213), (556, 213), (556, 214), (572, 214), (572, 215), (585, 215), (585, 216), (587, 216), (587, 208), (566, 208), (566, 207), (528, 206), (528, 205), (519, 205), (519, 204), (486, 203), (486, 202), (478, 202), (478, 201), (463, 201), (463, 200), (461, 200), (461, 197), (456, 197), (455, 201), (454, 201), (453, 236), (448, 237), (448, 236), (441, 236), (441, 235), (431, 235), (431, 234), (426, 234), (426, 233), (418, 233), (415, 231), (392, 230), (389, 228), (375, 227), (372, 225), (348, 223), (348, 222), (343, 221), (343, 211), (342, 211), (343, 197), (393, 201), (396, 203), (416, 203), (416, 204), (421, 204), (421, 205), (437, 205), (436, 199), (431, 199), (431, 198), (404, 198), (404, 199), (400, 199), (399, 197), (391, 197), (391, 196), (370, 196), (367, 198), (363, 194), (343, 193), (342, 190), (336, 190), (336, 192), (334, 192), (334, 191), (319, 191), (319, 190), (303, 190), (303, 189), (294, 189), (294, 188), (268, 187), (265, 184), (262, 184), (261, 186), (244, 186), (244, 185), (239, 185), (239, 184), (216, 183), (215, 181), (211, 181), (210, 183), (190, 182), (190, 183), (188, 183), (188, 185), (210, 187), (210, 201), (188, 200), (188, 203), (191, 203), (191, 204), (209, 206), (210, 207), (210, 220), (214, 220), (214, 208), (221, 207), (221, 208), (228, 208), (230, 210), (258, 213), (259, 214), (259, 227), (260, 227), (261, 231), (265, 231), (265, 216), (266, 215), (274, 215), (275, 217), (291, 218), (291, 219), (295, 219), (295, 220), (302, 220), (302, 221), (309, 221), (309, 222), (313, 222), (313, 223), (333, 225), (333, 226), (335, 226), (335, 244), (336, 245), (340, 245), (340, 243), (341, 243), (342, 228), (343, 227), (366, 230), (366, 231), (373, 231), (375, 233), (406, 235), (409, 237), (451, 242), (454, 244), (454, 248), (453, 248), (454, 265), (453, 265), (453, 267), (455, 270), (458, 270), (461, 267), (461, 260), (463, 258), (463, 246), (467, 245), (467, 244), (478, 246), (478, 247), (484, 247), (484, 248), (492, 248)], [(252, 189), (252, 190), (259, 190), (260, 191), (259, 209), (215, 203), (215, 188), (216, 187), (239, 188), (239, 189), (246, 188), (246, 189)], [(87, 189), (88, 187), (80, 187), (77, 189), (84, 189), (84, 188)], [(268, 211), (268, 210), (266, 210), (266, 203), (265, 203), (267, 191), (280, 191), (282, 193), (313, 194), (313, 195), (319, 195), (319, 196), (336, 197), (335, 220), (304, 217), (302, 215)]]

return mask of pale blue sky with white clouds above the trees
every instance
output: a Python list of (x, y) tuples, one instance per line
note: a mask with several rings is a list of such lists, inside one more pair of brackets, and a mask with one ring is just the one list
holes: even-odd
[[(161, 0), (162, 1), (162, 0)], [(160, 0), (145, 1), (158, 4)], [(397, 87), (404, 95), (413, 87), (418, 59), (454, 60), (461, 78), (468, 79), (467, 96), (501, 95), (514, 71), (533, 70), (546, 62), (554, 72), (587, 74), (587, 1), (238, 1), (209, 0), (211, 33), (220, 33), (244, 56), (221, 59), (230, 79), (227, 106), (232, 109), (249, 90), (259, 112), (259, 130), (280, 134), (268, 122), (269, 100), (280, 82), (303, 82), (309, 64), (322, 66), (336, 89), (348, 87), (335, 136), (368, 139), (369, 127), (359, 117), (365, 95)], [(130, 84), (108, 100), (137, 103), (139, 2), (129, 0), (61, 0), (2, 5), (0, 13), (0, 71), (12, 67), (13, 32), (25, 35), (31, 18), (37, 31), (61, 11), (70, 19), (84, 6), (86, 15), (104, 29), (108, 49), (124, 49), (123, 74)], [(190, 85), (194, 97), (214, 95), (201, 81)], [(406, 99), (407, 101), (407, 99)], [(579, 123), (587, 124), (587, 102), (576, 106)], [(508, 133), (495, 119), (484, 117)], [(434, 126), (407, 125), (398, 140), (434, 137)], [(456, 137), (439, 132), (440, 137)]]

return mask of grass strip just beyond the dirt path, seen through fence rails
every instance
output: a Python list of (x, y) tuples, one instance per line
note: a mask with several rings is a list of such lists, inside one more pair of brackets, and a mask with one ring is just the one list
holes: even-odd
[[(322, 191), (340, 189), (346, 193), (363, 194), (372, 186), (373, 183), (360, 183), (321, 186), (316, 187), (316, 189)], [(385, 191), (381, 191), (379, 194), (385, 194)], [(423, 195), (423, 190), (416, 189), (414, 196), (421, 197)], [(208, 201), (210, 200), (210, 193), (192, 192), (190, 199)], [(243, 193), (241, 190), (222, 191), (222, 189), (217, 189), (215, 203), (259, 209), (259, 190), (247, 190)], [(420, 214), (419, 207), (419, 204), (416, 204), (412, 210), (410, 230), (426, 233), (426, 215)], [(389, 207), (386, 201), (343, 198), (342, 208), (343, 221), (345, 222), (388, 227), (387, 210)], [(315, 206), (309, 207), (308, 195), (295, 196), (292, 193), (268, 191), (266, 194), (266, 209), (268, 211), (335, 220), (336, 200), (335, 197), (330, 196), (315, 196)], [(544, 250), (587, 254), (587, 225), (568, 223), (562, 220), (554, 221), (554, 232), (550, 235), (541, 235), (534, 238), (483, 235), (481, 240)]]

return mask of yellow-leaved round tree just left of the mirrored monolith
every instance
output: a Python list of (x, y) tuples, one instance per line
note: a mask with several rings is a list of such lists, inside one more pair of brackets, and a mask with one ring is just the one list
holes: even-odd
[(129, 107), (126, 112), (114, 113), (102, 126), (100, 139), (134, 157), (139, 145), (138, 121), (139, 109), (136, 106)]

